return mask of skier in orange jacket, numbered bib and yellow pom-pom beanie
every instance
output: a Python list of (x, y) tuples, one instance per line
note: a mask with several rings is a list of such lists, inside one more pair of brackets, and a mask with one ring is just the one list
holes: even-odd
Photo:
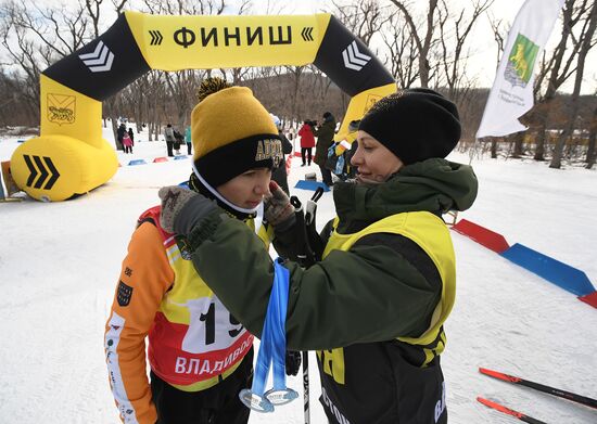
[[(209, 198), (257, 233), (267, 255), (272, 231), (259, 224), (257, 210), (282, 157), (278, 129), (247, 88), (208, 78), (199, 98), (191, 115), (190, 190), (177, 196)], [(185, 237), (160, 224), (168, 214), (156, 206), (139, 218), (106, 322), (106, 362), (120, 419), (245, 424), (249, 409), (238, 394), (251, 386), (253, 335), (195, 272)]]

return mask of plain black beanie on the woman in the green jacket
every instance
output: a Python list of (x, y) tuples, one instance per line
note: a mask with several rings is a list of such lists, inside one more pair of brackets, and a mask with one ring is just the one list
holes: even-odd
[(456, 105), (430, 89), (406, 89), (378, 101), (363, 117), (368, 132), (405, 165), (446, 157), (460, 140)]

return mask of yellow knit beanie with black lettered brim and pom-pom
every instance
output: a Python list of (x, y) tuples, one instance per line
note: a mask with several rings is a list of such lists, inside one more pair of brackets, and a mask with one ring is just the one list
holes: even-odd
[(207, 78), (199, 92), (200, 102), (191, 114), (193, 160), (212, 187), (249, 169), (278, 166), (282, 159), (278, 129), (251, 89)]

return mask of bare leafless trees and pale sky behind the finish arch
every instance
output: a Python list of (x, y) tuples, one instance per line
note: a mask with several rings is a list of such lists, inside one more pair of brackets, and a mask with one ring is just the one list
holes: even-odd
[[(2, 0), (0, 1), (0, 127), (37, 134), (39, 76), (105, 31), (126, 10), (152, 14), (292, 14), (285, 1), (251, 0)], [(306, 2), (313, 13), (331, 13), (376, 53), (398, 88), (427, 87), (457, 103), (462, 120), (461, 152), (492, 157), (532, 157), (552, 168), (590, 168), (597, 132), (597, 2), (566, 0), (547, 48), (538, 60), (535, 106), (521, 121), (526, 131), (475, 142), (475, 132), (516, 11), (495, 13), (500, 0), (330, 0)], [(298, 11), (301, 13), (301, 11)], [(303, 12), (304, 13), (304, 12)], [(493, 52), (481, 76), (469, 67), (479, 54), (475, 28), (490, 26)], [(492, 54), (493, 53), (493, 54)], [(487, 75), (492, 78), (487, 79)], [(305, 119), (331, 112), (342, 119), (350, 98), (317, 67), (275, 66), (229, 69), (151, 70), (103, 102), (104, 126), (123, 119), (144, 125), (149, 141), (167, 123), (183, 129), (208, 76), (224, 76), (253, 89), (291, 134)], [(15, 129), (15, 127), (18, 127)], [(474, 146), (474, 150), (471, 150)], [(116, 149), (122, 146), (116, 145)]]

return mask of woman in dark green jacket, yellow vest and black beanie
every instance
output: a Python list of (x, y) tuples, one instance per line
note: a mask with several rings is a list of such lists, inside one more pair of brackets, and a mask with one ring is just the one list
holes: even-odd
[[(359, 124), (356, 179), (334, 188), (338, 216), (321, 232), (320, 260), (307, 269), (284, 261), (287, 348), (317, 351), (330, 423), (447, 423), (440, 362), (456, 265), (442, 214), (469, 208), (478, 190), (470, 166), (445, 159), (459, 138), (455, 104), (435, 91), (380, 100)], [(258, 337), (274, 281), (269, 255), (205, 198), (172, 201), (177, 190), (160, 192), (172, 210), (163, 226), (187, 234), (195, 269)], [(275, 246), (297, 258), (295, 216), (288, 197), (270, 191)]]

